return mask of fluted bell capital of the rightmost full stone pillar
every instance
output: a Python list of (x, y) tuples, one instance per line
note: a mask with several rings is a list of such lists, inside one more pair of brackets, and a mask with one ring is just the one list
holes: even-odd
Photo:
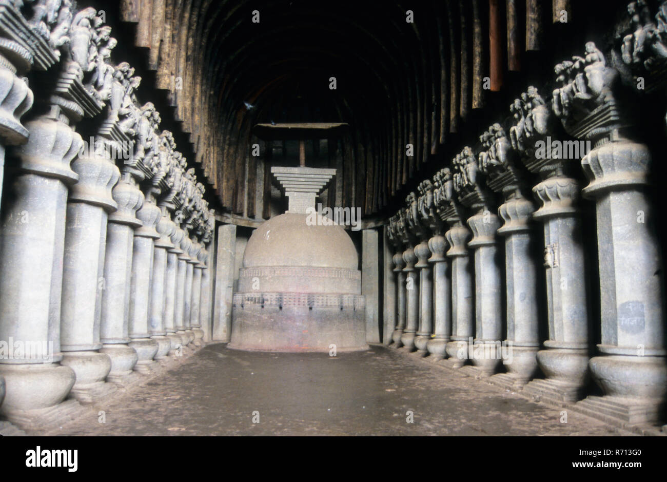
[(609, 142), (592, 150), (582, 160), (590, 184), (582, 194), (594, 198), (602, 192), (648, 184), (651, 154), (648, 146), (630, 141)]

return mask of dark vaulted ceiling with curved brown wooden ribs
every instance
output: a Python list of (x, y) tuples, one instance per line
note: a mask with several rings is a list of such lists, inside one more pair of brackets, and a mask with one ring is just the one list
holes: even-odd
[[(269, 180), (255, 176), (255, 124), (347, 122), (350, 134), (333, 153), (343, 167), (338, 201), (368, 216), (404, 200), (405, 186), (447, 155), (444, 146), (466, 122), (492, 122), (485, 105), (508, 107), (512, 73), (534, 63), (526, 52), (560, 28), (552, 15), (576, 17), (569, 4), (121, 0), (119, 13), (135, 25), (155, 87), (168, 92), (223, 208), (263, 214), (255, 196)], [(568, 25), (576, 28), (572, 18)]]

